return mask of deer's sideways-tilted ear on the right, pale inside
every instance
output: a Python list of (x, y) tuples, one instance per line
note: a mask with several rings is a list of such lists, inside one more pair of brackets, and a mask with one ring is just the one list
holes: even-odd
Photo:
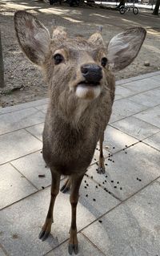
[(108, 63), (112, 71), (120, 71), (138, 55), (146, 37), (146, 30), (134, 27), (114, 36), (108, 45)]

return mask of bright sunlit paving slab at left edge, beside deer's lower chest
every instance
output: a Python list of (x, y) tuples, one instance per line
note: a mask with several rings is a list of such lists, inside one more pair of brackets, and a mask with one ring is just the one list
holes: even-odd
[(0, 136), (0, 165), (42, 148), (42, 142), (25, 130)]

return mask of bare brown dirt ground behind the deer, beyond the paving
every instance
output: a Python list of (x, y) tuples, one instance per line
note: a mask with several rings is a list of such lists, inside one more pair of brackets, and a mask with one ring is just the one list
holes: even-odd
[[(138, 15), (132, 12), (119, 14), (118, 11), (90, 7), (50, 6), (34, 0), (0, 0), (0, 29), (5, 64), (5, 89), (0, 88), (0, 106), (6, 107), (47, 96), (46, 84), (40, 71), (23, 55), (14, 33), (15, 10), (29, 10), (49, 29), (56, 25), (66, 26), (69, 35), (89, 37), (103, 26), (103, 38), (108, 42), (114, 35), (129, 26), (143, 26), (147, 30), (145, 43), (134, 63), (116, 74), (116, 79), (144, 74), (160, 69), (160, 19), (151, 15), (151, 10)], [(145, 61), (150, 67), (144, 66)]]

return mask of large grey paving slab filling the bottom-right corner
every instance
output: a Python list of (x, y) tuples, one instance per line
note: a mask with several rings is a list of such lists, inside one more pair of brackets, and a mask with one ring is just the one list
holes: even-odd
[(160, 184), (154, 182), (90, 225), (82, 234), (106, 255), (158, 256)]

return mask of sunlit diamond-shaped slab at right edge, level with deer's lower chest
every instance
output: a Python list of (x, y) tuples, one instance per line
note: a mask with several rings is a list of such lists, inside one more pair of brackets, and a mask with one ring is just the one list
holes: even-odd
[(158, 127), (139, 120), (134, 116), (128, 116), (125, 119), (114, 122), (111, 126), (126, 132), (130, 136), (134, 136), (138, 140), (143, 140), (160, 131)]

